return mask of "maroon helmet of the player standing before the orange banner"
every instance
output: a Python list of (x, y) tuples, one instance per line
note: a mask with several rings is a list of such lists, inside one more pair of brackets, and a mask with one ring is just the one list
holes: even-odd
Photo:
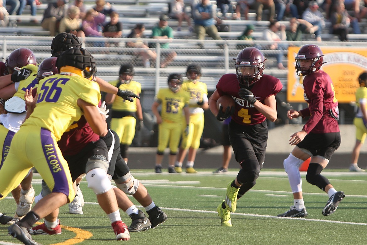
[[(326, 63), (323, 62), (323, 53), (321, 48), (315, 44), (306, 44), (303, 45), (295, 58), (296, 60), (296, 71), (298, 76), (305, 76), (312, 72), (317, 72), (320, 70), (321, 66)], [(300, 60), (311, 60), (311, 66), (301, 67), (299, 64)]]

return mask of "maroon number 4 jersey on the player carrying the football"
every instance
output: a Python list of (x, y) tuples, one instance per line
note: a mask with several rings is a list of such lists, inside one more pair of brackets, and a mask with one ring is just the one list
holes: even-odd
[[(263, 75), (259, 81), (251, 86), (251, 92), (259, 102), (264, 104), (265, 98), (276, 95), (283, 85), (280, 80), (270, 75)], [(236, 74), (224, 74), (218, 81), (217, 91), (219, 96), (230, 95), (236, 102), (235, 113), (232, 120), (241, 125), (254, 125), (265, 121), (265, 116), (247, 100), (242, 99), (238, 92), (240, 85)]]

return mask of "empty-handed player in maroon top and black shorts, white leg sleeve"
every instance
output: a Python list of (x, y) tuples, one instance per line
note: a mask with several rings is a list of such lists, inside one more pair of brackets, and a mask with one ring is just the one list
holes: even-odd
[(287, 116), (289, 119), (308, 116), (310, 118), (301, 131), (290, 136), (289, 144), (295, 147), (283, 163), (293, 192), (294, 206), (279, 214), (280, 217), (307, 216), (298, 167), (310, 157), (306, 180), (329, 196), (322, 214), (327, 216), (334, 213), (339, 202), (345, 197), (343, 191), (335, 190), (329, 180), (320, 174), (341, 142), (337, 121), (338, 100), (335, 98), (333, 82), (326, 72), (320, 70), (325, 63), (323, 56), (320, 47), (306, 44), (301, 47), (295, 58), (298, 76), (305, 76), (304, 98), (308, 107), (299, 111), (290, 109)]

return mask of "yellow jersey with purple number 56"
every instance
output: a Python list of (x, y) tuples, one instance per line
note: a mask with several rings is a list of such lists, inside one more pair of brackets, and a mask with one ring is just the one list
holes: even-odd
[(23, 125), (46, 128), (57, 140), (83, 114), (77, 105), (78, 99), (95, 106), (101, 100), (99, 85), (79, 76), (57, 74), (44, 78), (40, 81), (37, 93), (36, 108)]

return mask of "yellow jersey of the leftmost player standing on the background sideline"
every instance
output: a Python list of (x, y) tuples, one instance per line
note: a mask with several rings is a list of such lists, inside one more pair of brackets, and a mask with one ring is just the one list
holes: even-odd
[[(119, 80), (109, 82), (113, 86), (116, 86), (119, 83)], [(130, 81), (128, 84), (121, 84), (119, 89), (123, 91), (131, 91), (135, 94), (141, 94), (141, 84), (137, 81)], [(115, 101), (112, 104), (112, 109), (117, 111), (137, 111), (137, 99), (134, 99), (134, 102), (130, 102), (121, 98), (120, 96), (116, 96)]]

